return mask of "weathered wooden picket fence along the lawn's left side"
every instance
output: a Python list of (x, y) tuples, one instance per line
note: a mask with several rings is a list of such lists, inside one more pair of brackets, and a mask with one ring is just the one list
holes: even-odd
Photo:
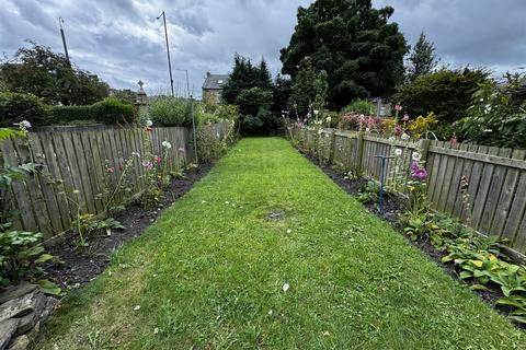
[[(213, 128), (218, 137), (226, 132), (225, 125)], [(30, 161), (44, 165), (42, 174), (13, 182), (11, 191), (3, 194), (20, 213), (14, 226), (52, 237), (71, 226), (79, 209), (81, 213), (103, 213), (100, 194), (108, 183), (115, 186), (133, 152), (145, 154), (150, 149), (162, 155), (171, 170), (194, 161), (191, 130), (153, 128), (146, 138), (145, 132), (107, 126), (47, 127), (30, 132), (27, 139), (1, 142), (3, 166)], [(163, 141), (172, 145), (168, 151), (162, 148)], [(138, 194), (145, 188), (145, 170), (138, 159), (132, 164), (126, 177), (133, 192)]]

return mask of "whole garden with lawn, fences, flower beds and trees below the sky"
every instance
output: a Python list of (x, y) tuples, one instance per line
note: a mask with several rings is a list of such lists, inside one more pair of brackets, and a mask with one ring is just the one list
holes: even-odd
[(526, 77), (392, 13), (300, 8), (217, 103), (2, 61), (0, 350), (524, 348)]

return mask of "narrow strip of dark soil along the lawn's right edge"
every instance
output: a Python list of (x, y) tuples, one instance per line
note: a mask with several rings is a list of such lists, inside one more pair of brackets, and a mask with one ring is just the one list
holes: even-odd
[[(325, 162), (320, 162), (317, 158), (301, 152), (308, 160), (310, 160), (315, 165), (320, 167), (327, 176), (329, 176), (335, 184), (338, 184), (343, 190), (345, 190), (351, 196), (357, 196), (359, 191), (367, 185), (366, 178), (345, 178), (343, 174), (340, 174), (334, 171), (334, 168), (327, 164)], [(378, 206), (376, 203), (373, 205), (365, 205), (367, 210), (371, 213), (376, 214), (377, 217), (381, 218), (382, 220), (388, 221), (397, 232), (402, 234), (405, 238), (407, 235), (403, 234), (403, 228), (398, 224), (398, 219), (400, 214), (404, 210), (404, 203), (401, 198), (397, 196), (388, 196), (384, 202), (384, 213), (380, 214), (378, 211)], [(458, 269), (454, 264), (444, 264), (442, 262), (442, 258), (447, 254), (444, 252), (439, 252), (433, 247), (428, 240), (419, 240), (419, 241), (411, 241), (408, 238), (408, 242), (411, 243), (413, 246), (418, 247), (422, 252), (424, 252), (430, 258), (432, 258), (439, 267), (442, 267), (447, 273), (449, 273), (453, 278), (455, 278), (460, 283), (465, 283), (468, 285), (477, 284), (474, 280), (462, 280), (459, 277), (460, 269)], [(511, 307), (507, 306), (499, 306), (495, 305), (495, 301), (503, 296), (501, 288), (498, 284), (488, 283), (487, 290), (477, 290), (473, 291), (479, 298), (484, 301), (488, 305), (495, 308), (499, 313), (507, 316), (512, 311)], [(526, 326), (515, 324), (517, 328), (522, 330), (526, 330)]]

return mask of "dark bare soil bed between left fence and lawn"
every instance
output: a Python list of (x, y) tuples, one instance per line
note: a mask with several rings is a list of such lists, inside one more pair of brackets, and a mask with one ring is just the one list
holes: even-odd
[(127, 207), (115, 217), (126, 229), (112, 230), (110, 236), (101, 233), (90, 238), (89, 247), (80, 248), (77, 245), (78, 237), (71, 233), (66, 235), (64, 241), (48, 248), (49, 254), (57, 256), (61, 262), (46, 266), (47, 277), (62, 288), (78, 287), (91, 281), (110, 264), (114, 249), (139, 236), (165, 208), (184, 196), (213, 166), (213, 163), (203, 163), (198, 171), (187, 173), (186, 178), (174, 179), (164, 192), (161, 203), (153, 210), (146, 210), (139, 205)]

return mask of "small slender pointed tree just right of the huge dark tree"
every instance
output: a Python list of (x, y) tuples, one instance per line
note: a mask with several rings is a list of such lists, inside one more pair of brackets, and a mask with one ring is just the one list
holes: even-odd
[(424, 32), (409, 56), (408, 79), (414, 81), (420, 75), (431, 74), (438, 65), (435, 55), (435, 45), (427, 40)]

